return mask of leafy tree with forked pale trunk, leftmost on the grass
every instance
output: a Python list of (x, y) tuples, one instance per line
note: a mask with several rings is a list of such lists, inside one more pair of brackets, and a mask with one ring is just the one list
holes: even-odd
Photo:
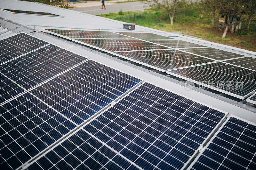
[(145, 0), (151, 7), (163, 8), (173, 25), (173, 18), (178, 8), (186, 4), (186, 0)]

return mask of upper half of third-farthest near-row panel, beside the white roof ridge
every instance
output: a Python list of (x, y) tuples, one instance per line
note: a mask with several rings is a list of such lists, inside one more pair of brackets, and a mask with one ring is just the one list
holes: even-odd
[(81, 124), (141, 80), (88, 60), (31, 90), (54, 109)]

